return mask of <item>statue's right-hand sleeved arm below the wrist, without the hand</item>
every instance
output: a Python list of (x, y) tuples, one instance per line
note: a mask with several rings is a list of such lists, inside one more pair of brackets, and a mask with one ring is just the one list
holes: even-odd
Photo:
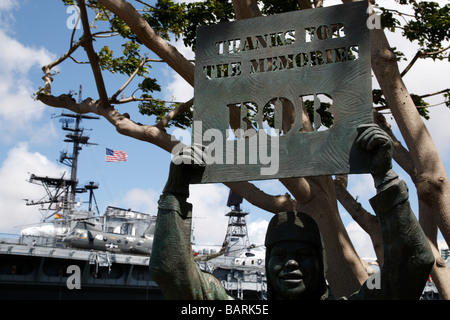
[(434, 256), (408, 200), (406, 183), (395, 179), (370, 200), (380, 223), (384, 262), (380, 299), (419, 299)]

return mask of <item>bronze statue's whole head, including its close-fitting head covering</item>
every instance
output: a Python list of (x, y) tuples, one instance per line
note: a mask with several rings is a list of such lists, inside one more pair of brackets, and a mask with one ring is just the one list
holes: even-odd
[(267, 228), (268, 299), (325, 299), (326, 257), (316, 222), (302, 212), (276, 214)]

